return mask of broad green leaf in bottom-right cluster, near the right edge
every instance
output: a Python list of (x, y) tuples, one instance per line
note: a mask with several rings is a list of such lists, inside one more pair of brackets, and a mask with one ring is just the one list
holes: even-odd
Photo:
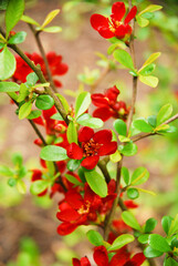
[(155, 250), (158, 250), (158, 252), (161, 252), (161, 253), (171, 252), (171, 248), (168, 245), (168, 242), (166, 241), (166, 238), (164, 238), (163, 236), (160, 236), (158, 234), (149, 235), (148, 244)]

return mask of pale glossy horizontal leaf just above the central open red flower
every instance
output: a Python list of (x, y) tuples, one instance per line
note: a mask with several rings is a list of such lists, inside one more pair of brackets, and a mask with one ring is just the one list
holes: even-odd
[(103, 126), (104, 122), (101, 119), (92, 117), (88, 113), (84, 113), (76, 122), (83, 126), (90, 126), (92, 129), (100, 129)]

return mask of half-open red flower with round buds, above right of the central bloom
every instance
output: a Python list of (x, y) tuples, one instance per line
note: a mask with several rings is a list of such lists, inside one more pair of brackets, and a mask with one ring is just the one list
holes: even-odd
[(105, 93), (92, 94), (92, 103), (97, 106), (93, 116), (102, 119), (104, 122), (109, 117), (126, 120), (128, 109), (125, 102), (117, 101), (118, 94), (119, 90), (116, 85), (107, 89)]

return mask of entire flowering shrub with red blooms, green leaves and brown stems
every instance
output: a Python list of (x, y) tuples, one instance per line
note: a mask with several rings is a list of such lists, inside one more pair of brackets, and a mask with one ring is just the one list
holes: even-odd
[[(137, 6), (130, 0), (128, 4), (114, 2), (109, 17), (97, 13), (91, 17), (94, 30), (112, 43), (107, 51), (112, 59), (104, 58), (107, 69), (112, 71), (122, 66), (129, 71), (133, 92), (128, 106), (122, 100), (117, 84), (106, 85), (108, 89), (100, 93), (93, 89), (92, 93), (78, 91), (75, 103), (70, 106), (57, 91), (57, 88), (62, 91), (62, 83), (56, 79), (65, 74), (69, 66), (62, 62), (62, 55), (55, 52), (45, 54), (40, 39), (41, 32), (61, 31), (60, 27), (46, 27), (60, 10), (51, 11), (39, 24), (23, 14), (22, 0), (7, 1), (6, 32), (1, 29), (0, 33), (0, 92), (9, 95), (17, 105), (19, 120), (27, 119), (38, 135), (34, 144), (41, 149), (42, 167), (30, 170), (30, 192), (39, 197), (49, 194), (51, 201), (60, 194), (59, 235), (69, 235), (81, 225), (95, 226), (96, 229), (90, 227), (86, 236), (94, 245), (93, 259), (97, 266), (156, 265), (154, 258), (163, 255), (165, 266), (178, 265), (178, 215), (163, 217), (165, 237), (153, 233), (157, 225), (153, 217), (140, 226), (132, 209), (139, 208), (135, 202), (139, 193), (155, 194), (139, 187), (148, 181), (149, 172), (139, 166), (130, 174), (124, 166), (125, 156), (132, 160), (138, 152), (136, 143), (139, 140), (175, 132), (176, 127), (169, 124), (178, 119), (178, 114), (172, 115), (169, 103), (161, 106), (157, 115), (134, 117), (138, 80), (148, 86), (157, 86), (158, 78), (153, 71), (160, 55), (159, 52), (150, 54), (142, 68), (137, 68), (135, 24), (146, 27), (149, 21), (144, 22), (143, 14), (147, 13), (149, 18), (161, 7), (149, 4), (142, 10), (139, 1), (133, 2)], [(20, 20), (30, 25), (41, 54), (30, 54), (19, 48), (27, 33), (12, 30)], [(85, 76), (83, 79), (85, 81)], [(92, 105), (96, 106), (93, 113)], [(109, 129), (106, 121), (109, 121)], [(1, 166), (0, 173), (9, 176), (9, 185), (17, 185), (21, 193), (25, 193), (28, 170), (21, 157), (14, 162), (14, 170)], [(109, 172), (109, 164), (114, 175)], [(72, 264), (93, 265), (90, 260), (83, 256), (73, 258)]]

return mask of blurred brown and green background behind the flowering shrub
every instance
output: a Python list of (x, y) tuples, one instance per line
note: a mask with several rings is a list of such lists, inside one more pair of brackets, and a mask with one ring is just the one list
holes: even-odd
[[(3, 27), (3, 1), (1, 1), (0, 23)], [(107, 49), (109, 42), (98, 35), (90, 24), (92, 13), (109, 13), (109, 0), (27, 0), (25, 14), (42, 23), (45, 16), (53, 9), (61, 9), (60, 14), (51, 25), (60, 25), (60, 33), (42, 33), (41, 39), (46, 52), (55, 51), (63, 57), (69, 65), (69, 72), (61, 76), (63, 83), (60, 93), (70, 103), (74, 102), (75, 92), (85, 88), (90, 91), (92, 84), (105, 71), (109, 62)], [(126, 2), (126, 1), (125, 1)], [(153, 52), (161, 52), (157, 61), (155, 75), (159, 78), (156, 89), (138, 83), (136, 114), (147, 116), (157, 114), (159, 109), (171, 103), (174, 113), (178, 110), (178, 6), (177, 0), (144, 1), (135, 0), (142, 10), (148, 3), (163, 6), (163, 10), (151, 14), (149, 25), (136, 27), (135, 49), (137, 66), (140, 68)], [(19, 22), (14, 29), (27, 31), (24, 43), (20, 44), (25, 52), (38, 52), (33, 34), (24, 22)], [(132, 78), (123, 69), (113, 69), (96, 88), (104, 92), (117, 84), (121, 90), (119, 100), (130, 104)], [(0, 96), (0, 165), (13, 167), (14, 155), (20, 153), (27, 168), (40, 168), (40, 149), (33, 144), (35, 133), (29, 123), (19, 121), (15, 106), (9, 98)], [(106, 123), (106, 126), (109, 126)], [(178, 126), (178, 122), (174, 122)], [(134, 170), (146, 166), (150, 178), (145, 187), (156, 192), (156, 196), (142, 194), (136, 202), (139, 204), (138, 219), (148, 217), (158, 219), (157, 232), (160, 229), (160, 218), (164, 215), (175, 216), (178, 209), (178, 133), (166, 136), (153, 136), (138, 143), (138, 154), (126, 158), (124, 165)], [(29, 182), (29, 183), (28, 183)], [(27, 185), (30, 184), (30, 175)], [(0, 266), (69, 266), (71, 258), (91, 256), (91, 247), (85, 239), (86, 228), (80, 227), (70, 236), (56, 234), (59, 222), (55, 218), (57, 197), (51, 201), (49, 196), (36, 197), (29, 191), (22, 195), (15, 187), (8, 185), (8, 177), (0, 176)]]

